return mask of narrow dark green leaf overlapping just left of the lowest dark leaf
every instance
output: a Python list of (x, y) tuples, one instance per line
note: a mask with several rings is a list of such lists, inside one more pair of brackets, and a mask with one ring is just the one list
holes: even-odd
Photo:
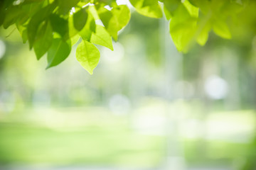
[(50, 23), (44, 24), (39, 33), (41, 35), (38, 36), (38, 40), (33, 45), (38, 60), (48, 51), (53, 42), (53, 30), (50, 27)]

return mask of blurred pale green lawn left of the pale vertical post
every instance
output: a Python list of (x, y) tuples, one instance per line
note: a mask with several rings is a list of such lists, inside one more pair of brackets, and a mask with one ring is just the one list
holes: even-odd
[[(90, 114), (80, 119), (86, 117)], [(98, 120), (94, 125), (85, 121), (67, 127), (2, 121), (0, 164), (157, 166), (164, 155), (163, 137), (137, 134), (115, 120), (115, 124)]]

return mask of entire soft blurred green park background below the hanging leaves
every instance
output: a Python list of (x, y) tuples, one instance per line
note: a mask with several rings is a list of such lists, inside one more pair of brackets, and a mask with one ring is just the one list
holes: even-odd
[(92, 76), (1, 28), (0, 169), (256, 169), (256, 38), (181, 54), (168, 25), (132, 13)]

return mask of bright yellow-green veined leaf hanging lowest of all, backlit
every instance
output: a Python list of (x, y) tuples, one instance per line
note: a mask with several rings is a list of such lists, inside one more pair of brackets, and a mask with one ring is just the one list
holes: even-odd
[(91, 42), (83, 40), (78, 45), (75, 57), (77, 58), (78, 62), (80, 62), (82, 67), (87, 70), (87, 72), (93, 74), (93, 69), (95, 69), (100, 61), (100, 52)]

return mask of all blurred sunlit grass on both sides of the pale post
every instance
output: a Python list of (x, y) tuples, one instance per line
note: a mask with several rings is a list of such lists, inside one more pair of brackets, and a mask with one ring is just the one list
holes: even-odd
[[(152, 115), (151, 111), (157, 113), (159, 108), (145, 105), (134, 111), (137, 113), (134, 118)], [(181, 108), (186, 110), (186, 106)], [(191, 119), (191, 114), (185, 115), (182, 120), (184, 125), (187, 118)], [(181, 132), (186, 163), (233, 164), (236, 159), (245, 157), (250, 140), (238, 139), (253, 135), (254, 120), (254, 111), (211, 113), (206, 122), (209, 130), (216, 125), (214, 130), (217, 133), (209, 131), (213, 135), (210, 138), (190, 138)], [(134, 129), (129, 116), (110, 114), (106, 108), (28, 109), (22, 113), (1, 115), (0, 164), (145, 168), (161, 166), (165, 159), (166, 135), (145, 135)]]

